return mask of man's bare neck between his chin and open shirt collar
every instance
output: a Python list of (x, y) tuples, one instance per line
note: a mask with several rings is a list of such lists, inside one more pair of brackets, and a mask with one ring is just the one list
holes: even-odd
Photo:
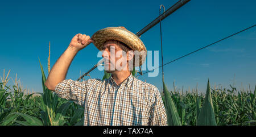
[(129, 77), (131, 74), (130, 70), (121, 70), (121, 71), (115, 71), (112, 73), (112, 77), (115, 81), (115, 83), (120, 86), (121, 83)]

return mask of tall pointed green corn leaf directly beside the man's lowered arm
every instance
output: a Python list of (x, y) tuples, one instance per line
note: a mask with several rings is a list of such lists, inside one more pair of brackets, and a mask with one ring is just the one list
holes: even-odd
[(166, 85), (163, 81), (163, 92), (164, 92), (164, 98), (166, 102), (166, 114), (167, 114), (167, 122), (169, 126), (181, 126), (181, 121), (179, 114), (177, 113), (176, 106), (174, 104), (174, 101), (172, 101), (172, 97), (170, 93), (168, 92)]

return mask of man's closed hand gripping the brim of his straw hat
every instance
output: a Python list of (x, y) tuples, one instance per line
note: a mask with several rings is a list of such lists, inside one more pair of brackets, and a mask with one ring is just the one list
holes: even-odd
[(86, 36), (85, 34), (77, 34), (71, 40), (69, 47), (76, 49), (77, 51), (80, 51), (92, 42), (93, 40), (90, 39), (90, 36)]

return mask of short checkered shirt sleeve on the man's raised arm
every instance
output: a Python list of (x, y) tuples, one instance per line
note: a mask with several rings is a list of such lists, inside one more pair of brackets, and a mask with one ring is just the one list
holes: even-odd
[(55, 93), (61, 98), (71, 100), (78, 105), (84, 106), (88, 80), (73, 81), (63, 80), (55, 87)]

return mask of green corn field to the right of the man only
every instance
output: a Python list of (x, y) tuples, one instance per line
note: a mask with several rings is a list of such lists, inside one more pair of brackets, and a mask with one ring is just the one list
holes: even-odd
[[(255, 90), (256, 87), (254, 93), (251, 90), (237, 91), (231, 85), (230, 89), (210, 89), (208, 81), (205, 95), (195, 90), (181, 92), (174, 89), (170, 92), (174, 105), (168, 105), (177, 109), (181, 125), (256, 125)], [(162, 98), (168, 108), (166, 99)]]

